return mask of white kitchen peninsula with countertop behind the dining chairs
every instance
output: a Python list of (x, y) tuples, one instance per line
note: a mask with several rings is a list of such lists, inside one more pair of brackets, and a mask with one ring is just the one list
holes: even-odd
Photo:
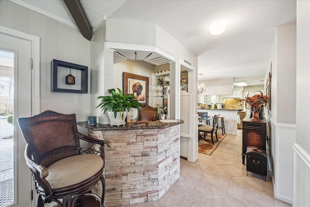
[[(238, 116), (237, 112), (239, 110), (242, 111), (242, 109), (198, 109), (198, 112), (208, 112), (208, 116), (210, 117), (217, 114), (219, 114), (219, 117), (225, 117), (224, 124), (226, 134), (237, 135), (237, 116)], [(217, 133), (221, 134), (220, 130), (218, 130)]]

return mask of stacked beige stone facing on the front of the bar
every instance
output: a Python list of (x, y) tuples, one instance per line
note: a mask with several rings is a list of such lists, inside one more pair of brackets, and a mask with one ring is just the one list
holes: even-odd
[(180, 177), (179, 131), (179, 125), (137, 130), (89, 129), (89, 136), (112, 143), (105, 147), (105, 207), (155, 201), (171, 188)]

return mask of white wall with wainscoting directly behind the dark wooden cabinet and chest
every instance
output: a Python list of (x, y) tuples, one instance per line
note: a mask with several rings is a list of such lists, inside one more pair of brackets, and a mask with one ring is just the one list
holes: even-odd
[[(271, 72), (270, 163), (275, 198), (293, 201), (296, 142), (296, 22), (277, 27), (265, 78)], [(270, 65), (271, 68), (270, 68)], [(290, 84), (288, 84), (290, 83)], [(287, 99), (291, 94), (292, 98)], [(269, 118), (269, 117), (268, 117)]]

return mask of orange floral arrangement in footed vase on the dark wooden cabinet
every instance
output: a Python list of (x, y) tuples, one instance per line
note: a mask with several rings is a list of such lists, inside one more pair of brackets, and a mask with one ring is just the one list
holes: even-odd
[(250, 106), (252, 106), (253, 112), (252, 112), (252, 118), (250, 118), (250, 120), (255, 121), (255, 122), (260, 122), (262, 120), (259, 118), (259, 112), (257, 111), (258, 107), (261, 107), (263, 104), (267, 103), (269, 101), (269, 97), (266, 95), (264, 96), (261, 91), (254, 91), (251, 94), (255, 92), (259, 92), (259, 94), (255, 94), (254, 96), (249, 96), (250, 92), (248, 92), (246, 99), (241, 99), (239, 101), (245, 101)]

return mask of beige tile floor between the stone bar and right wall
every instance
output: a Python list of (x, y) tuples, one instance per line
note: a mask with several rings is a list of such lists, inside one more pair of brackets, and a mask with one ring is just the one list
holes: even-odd
[(227, 135), (211, 156), (181, 159), (180, 179), (158, 201), (129, 207), (290, 207), (273, 197), (271, 177), (247, 176), (242, 164), (242, 130)]

